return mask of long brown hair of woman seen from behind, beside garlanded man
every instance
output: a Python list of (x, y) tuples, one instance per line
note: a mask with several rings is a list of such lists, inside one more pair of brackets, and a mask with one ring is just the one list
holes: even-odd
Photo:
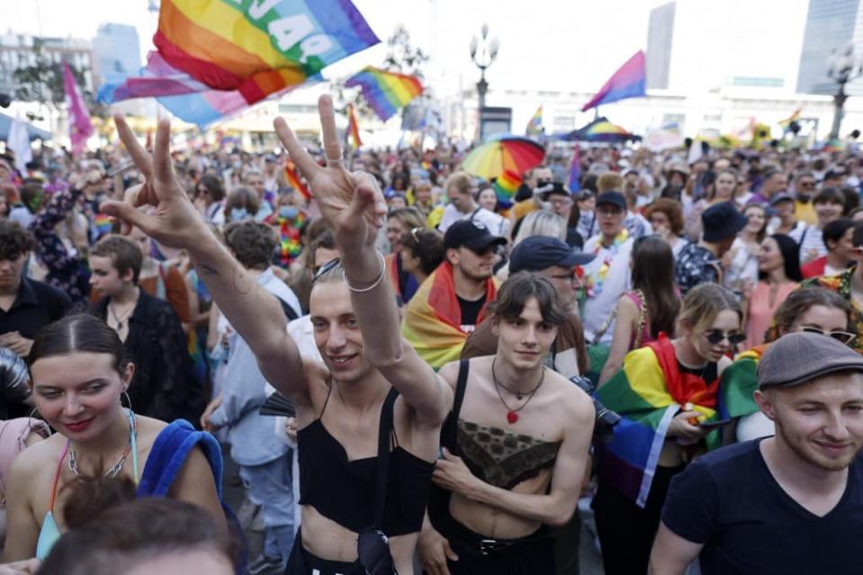
[(680, 298), (674, 284), (674, 255), (661, 238), (645, 236), (633, 245), (633, 289), (644, 294), (651, 333), (674, 335)]

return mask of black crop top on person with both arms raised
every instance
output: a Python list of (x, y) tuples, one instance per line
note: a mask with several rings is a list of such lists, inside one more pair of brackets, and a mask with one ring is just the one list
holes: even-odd
[[(300, 504), (310, 505), (322, 516), (359, 533), (375, 523), (377, 457), (348, 461), (345, 448), (329, 434), (322, 417), (323, 410), (319, 418), (297, 432)], [(381, 527), (389, 536), (408, 535), (422, 527), (435, 463), (401, 447), (394, 429), (391, 437), (395, 448), (390, 452)]]

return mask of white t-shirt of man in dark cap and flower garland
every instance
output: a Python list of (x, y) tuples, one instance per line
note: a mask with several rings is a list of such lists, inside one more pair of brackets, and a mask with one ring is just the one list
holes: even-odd
[[(620, 296), (632, 287), (629, 257), (633, 251), (633, 243), (633, 238), (627, 238), (616, 248), (615, 253), (614, 247), (602, 246), (602, 234), (598, 234), (584, 244), (585, 253), (597, 255), (592, 262), (583, 266), (585, 279), (592, 278), (594, 286), (597, 285), (599, 269), (608, 258), (611, 259), (606, 277), (602, 280), (601, 290), (594, 295), (589, 294), (587, 301), (584, 302), (584, 314), (581, 320), (584, 322), (584, 337), (589, 344), (593, 342), (599, 328), (616, 309)], [(615, 322), (612, 321), (599, 343), (610, 345), (614, 332)]]

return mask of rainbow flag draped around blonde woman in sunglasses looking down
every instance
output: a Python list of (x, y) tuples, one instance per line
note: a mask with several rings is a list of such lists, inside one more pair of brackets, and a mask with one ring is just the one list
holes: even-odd
[[(668, 337), (631, 351), (624, 368), (596, 392), (598, 400), (621, 416), (614, 438), (597, 445), (598, 473), (643, 508), (671, 419), (687, 403), (702, 414), (699, 421), (715, 419), (718, 387), (718, 378), (705, 383), (680, 373)], [(708, 449), (721, 441), (718, 430), (706, 436)]]

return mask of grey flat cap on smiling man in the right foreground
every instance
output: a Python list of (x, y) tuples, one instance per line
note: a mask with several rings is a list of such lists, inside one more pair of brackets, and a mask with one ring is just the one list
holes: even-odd
[(758, 387), (785, 387), (838, 372), (863, 373), (863, 355), (838, 339), (797, 332), (779, 337), (758, 365)]

